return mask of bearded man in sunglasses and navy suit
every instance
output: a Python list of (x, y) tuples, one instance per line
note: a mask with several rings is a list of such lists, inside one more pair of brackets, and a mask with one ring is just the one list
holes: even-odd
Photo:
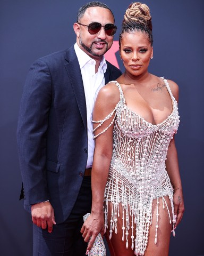
[(99, 89), (121, 71), (104, 59), (116, 32), (100, 2), (83, 5), (77, 42), (33, 63), (25, 82), (18, 148), (24, 207), (33, 221), (33, 255), (85, 255), (80, 229), (91, 211), (91, 115)]

